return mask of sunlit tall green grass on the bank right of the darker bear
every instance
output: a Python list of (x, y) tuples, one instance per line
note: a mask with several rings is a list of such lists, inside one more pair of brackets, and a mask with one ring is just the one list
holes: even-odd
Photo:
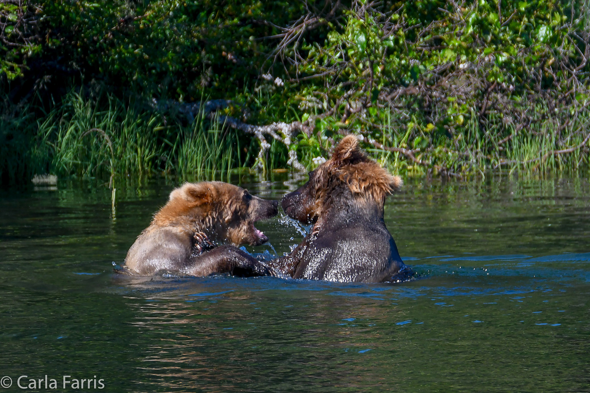
[[(540, 109), (538, 112), (547, 112), (546, 108)], [(434, 167), (444, 167), (467, 176), (486, 176), (490, 171), (503, 170), (521, 175), (575, 174), (590, 169), (590, 141), (581, 146), (590, 133), (590, 111), (568, 121), (557, 116), (542, 120), (535, 117), (536, 110), (531, 112), (532, 121), (524, 128), (506, 124), (500, 116), (490, 117), (482, 124), (477, 114), (471, 113), (464, 127), (453, 134), (438, 136), (438, 140), (433, 133), (419, 126), (396, 128), (391, 116), (386, 115), (379, 142), (385, 146), (411, 149), (409, 140), (430, 138), (434, 146), (421, 149), (415, 157), (431, 165), (416, 164), (401, 153), (376, 148), (369, 151), (389, 170), (409, 176), (424, 176)]]

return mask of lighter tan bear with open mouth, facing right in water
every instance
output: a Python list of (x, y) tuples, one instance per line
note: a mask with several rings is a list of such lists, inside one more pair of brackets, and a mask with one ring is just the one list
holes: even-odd
[(160, 270), (192, 276), (212, 273), (272, 275), (253, 256), (231, 245), (261, 245), (268, 237), (256, 229), (258, 220), (276, 216), (277, 201), (252, 196), (220, 181), (185, 183), (170, 194), (127, 252), (124, 270), (149, 276)]

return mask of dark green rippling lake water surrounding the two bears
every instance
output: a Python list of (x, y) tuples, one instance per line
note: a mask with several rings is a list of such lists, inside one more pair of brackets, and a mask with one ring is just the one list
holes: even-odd
[[(278, 199), (303, 180), (241, 185)], [(100, 183), (0, 194), (4, 391), (21, 375), (110, 392), (590, 391), (586, 179), (408, 180), (385, 221), (411, 282), (120, 280), (112, 263), (173, 186), (119, 187), (114, 217)], [(284, 216), (258, 227), (272, 247), (250, 251), (301, 239)]]

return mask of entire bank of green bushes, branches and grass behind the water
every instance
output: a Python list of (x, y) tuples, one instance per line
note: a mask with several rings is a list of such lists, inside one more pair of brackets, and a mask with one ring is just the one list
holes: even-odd
[(588, 0), (0, 3), (0, 178), (588, 171)]

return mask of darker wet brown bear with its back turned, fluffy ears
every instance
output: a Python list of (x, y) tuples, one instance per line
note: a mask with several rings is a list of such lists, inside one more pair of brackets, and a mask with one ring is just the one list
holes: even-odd
[(289, 217), (313, 226), (271, 267), (293, 278), (397, 281), (408, 269), (383, 222), (383, 204), (401, 186), (399, 176), (367, 157), (355, 136), (346, 136), (307, 183), (283, 197)]

